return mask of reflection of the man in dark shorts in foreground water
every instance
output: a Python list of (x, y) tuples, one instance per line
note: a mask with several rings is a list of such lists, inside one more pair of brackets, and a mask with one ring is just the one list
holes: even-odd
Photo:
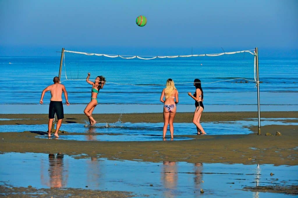
[(66, 186), (66, 182), (63, 182), (63, 154), (49, 154), (49, 169), (51, 187), (61, 188)]

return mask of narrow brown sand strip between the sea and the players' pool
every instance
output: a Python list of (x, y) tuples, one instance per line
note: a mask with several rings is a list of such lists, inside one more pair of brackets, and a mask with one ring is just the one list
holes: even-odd
[[(111, 113), (111, 114), (93, 114), (97, 123), (115, 123), (115, 122), (149, 122), (158, 123), (163, 122), (162, 113)], [(297, 118), (298, 111), (264, 111), (260, 113), (262, 118)], [(221, 122), (221, 121), (235, 121), (243, 119), (257, 119), (258, 112), (254, 111), (234, 111), (234, 112), (203, 112), (201, 122)], [(0, 114), (0, 125), (19, 125), (19, 124), (47, 124), (48, 114)], [(13, 120), (17, 119), (17, 120)], [(193, 119), (193, 112), (177, 112), (174, 123), (191, 123)], [(56, 120), (57, 121), (57, 120)], [(64, 114), (62, 124), (80, 123), (84, 124), (88, 121), (85, 114)], [(291, 122), (298, 122), (298, 120), (291, 120)], [(262, 123), (261, 123), (262, 126)]]

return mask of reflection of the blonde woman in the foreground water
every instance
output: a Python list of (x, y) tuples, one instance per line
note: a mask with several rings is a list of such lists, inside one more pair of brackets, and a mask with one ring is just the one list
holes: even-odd
[(164, 197), (175, 197), (177, 187), (177, 165), (175, 161), (163, 161), (161, 179), (164, 184)]

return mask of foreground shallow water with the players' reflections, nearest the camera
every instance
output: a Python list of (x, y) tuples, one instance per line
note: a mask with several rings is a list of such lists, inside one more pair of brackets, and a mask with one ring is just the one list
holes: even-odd
[(205, 197), (293, 197), (243, 188), (298, 185), (297, 174), (293, 174), (298, 166), (203, 164), (199, 159), (196, 163), (151, 163), (4, 153), (0, 166), (1, 185), (133, 191), (138, 197), (198, 197), (200, 189)]

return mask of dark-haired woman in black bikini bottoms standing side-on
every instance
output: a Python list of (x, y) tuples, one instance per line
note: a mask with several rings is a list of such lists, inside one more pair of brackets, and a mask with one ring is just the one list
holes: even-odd
[(195, 100), (195, 113), (193, 115), (193, 123), (197, 127), (198, 135), (205, 135), (206, 133), (202, 125), (200, 124), (201, 115), (204, 110), (203, 89), (201, 87), (201, 81), (196, 78), (193, 86), (195, 86), (195, 93), (192, 95), (190, 92), (188, 92), (188, 95)]

